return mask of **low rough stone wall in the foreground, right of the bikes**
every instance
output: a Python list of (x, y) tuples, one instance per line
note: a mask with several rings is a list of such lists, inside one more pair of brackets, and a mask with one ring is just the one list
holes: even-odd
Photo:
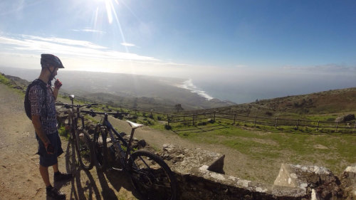
[(172, 144), (164, 144), (159, 154), (176, 174), (180, 199), (356, 200), (356, 165), (347, 167), (339, 179), (325, 167), (281, 164), (268, 186), (217, 173), (224, 167), (221, 154)]

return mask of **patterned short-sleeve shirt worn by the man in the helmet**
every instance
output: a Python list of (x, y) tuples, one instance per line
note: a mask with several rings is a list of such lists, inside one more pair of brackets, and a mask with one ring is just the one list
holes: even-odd
[(47, 85), (46, 105), (43, 103), (45, 92), (40, 85), (33, 85), (28, 93), (31, 102), (31, 115), (40, 115), (41, 125), (46, 135), (58, 131), (55, 98), (50, 87), (50, 85)]

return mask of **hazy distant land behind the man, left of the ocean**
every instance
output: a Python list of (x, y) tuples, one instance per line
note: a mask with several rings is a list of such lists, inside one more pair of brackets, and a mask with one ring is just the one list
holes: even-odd
[[(40, 73), (39, 70), (14, 68), (1, 70), (26, 80), (34, 80)], [(179, 88), (177, 85), (184, 82), (179, 78), (65, 70), (58, 72), (57, 78), (63, 83), (61, 89), (66, 93), (103, 102), (111, 101), (125, 107), (155, 109), (157, 112), (173, 111), (177, 104), (181, 104), (184, 110), (235, 104), (218, 99), (207, 100), (191, 90)]]

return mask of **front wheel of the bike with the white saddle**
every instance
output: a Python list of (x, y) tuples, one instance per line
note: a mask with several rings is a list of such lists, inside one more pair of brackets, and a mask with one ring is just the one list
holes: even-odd
[(99, 171), (104, 171), (108, 165), (108, 147), (106, 143), (107, 137), (108, 132), (105, 128), (100, 127), (100, 125), (95, 127), (93, 149), (95, 157), (95, 167)]

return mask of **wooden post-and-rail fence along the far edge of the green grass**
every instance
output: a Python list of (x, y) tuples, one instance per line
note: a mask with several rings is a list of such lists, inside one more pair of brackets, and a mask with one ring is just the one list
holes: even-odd
[(294, 127), (298, 130), (299, 127), (310, 127), (315, 128), (315, 130), (320, 130), (323, 128), (335, 130), (338, 132), (340, 130), (350, 130), (356, 132), (356, 121), (355, 122), (329, 122), (329, 121), (312, 121), (312, 120), (295, 120), (295, 119), (283, 119), (283, 118), (273, 118), (273, 117), (258, 117), (258, 116), (247, 116), (247, 115), (237, 115), (223, 112), (207, 112), (201, 114), (193, 115), (170, 115), (168, 117), (168, 125), (172, 123), (186, 123), (192, 125), (201, 125), (204, 120), (229, 120), (232, 125), (242, 122), (244, 125), (250, 124), (253, 127), (257, 125), (266, 125), (269, 127), (287, 126)]

